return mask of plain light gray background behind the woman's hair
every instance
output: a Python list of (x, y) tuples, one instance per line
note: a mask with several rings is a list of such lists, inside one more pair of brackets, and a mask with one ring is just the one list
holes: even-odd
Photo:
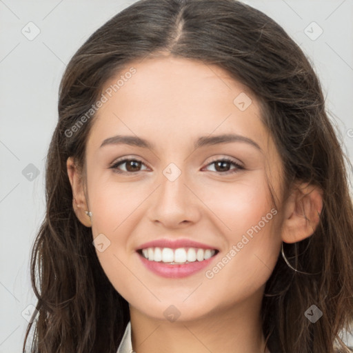
[[(36, 303), (29, 256), (45, 210), (44, 163), (63, 70), (94, 30), (134, 2), (0, 0), (0, 353), (21, 352), (28, 305)], [(353, 1), (245, 2), (278, 21), (312, 59), (352, 160)], [(30, 36), (36, 26), (30, 41), (21, 31)], [(30, 163), (38, 177), (26, 172)]]

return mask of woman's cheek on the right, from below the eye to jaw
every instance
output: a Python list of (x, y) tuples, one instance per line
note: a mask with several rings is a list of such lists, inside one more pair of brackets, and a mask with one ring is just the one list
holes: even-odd
[[(210, 283), (226, 284), (230, 292), (250, 294), (268, 280), (281, 248), (279, 211), (270, 197), (265, 177), (223, 185), (209, 192), (208, 204), (221, 220), (228, 248), (218, 263), (208, 268)], [(210, 284), (211, 285), (211, 284)], [(240, 292), (239, 292), (240, 293)]]

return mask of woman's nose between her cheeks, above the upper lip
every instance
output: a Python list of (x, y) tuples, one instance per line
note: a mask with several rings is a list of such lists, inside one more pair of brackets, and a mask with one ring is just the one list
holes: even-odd
[(149, 201), (148, 218), (166, 228), (190, 226), (199, 221), (202, 203), (185, 173), (171, 180), (165, 174), (159, 178), (159, 187)]

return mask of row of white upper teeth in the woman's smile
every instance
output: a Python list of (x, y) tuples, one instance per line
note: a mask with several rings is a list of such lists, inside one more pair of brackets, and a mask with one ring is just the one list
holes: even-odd
[(190, 263), (210, 259), (216, 250), (201, 248), (147, 248), (142, 250), (143, 257), (149, 261), (163, 263)]

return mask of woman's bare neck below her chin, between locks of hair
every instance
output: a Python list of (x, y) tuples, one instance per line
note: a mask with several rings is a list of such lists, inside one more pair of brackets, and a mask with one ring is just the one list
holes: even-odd
[(191, 321), (154, 319), (130, 305), (132, 348), (136, 353), (267, 353), (259, 294)]

